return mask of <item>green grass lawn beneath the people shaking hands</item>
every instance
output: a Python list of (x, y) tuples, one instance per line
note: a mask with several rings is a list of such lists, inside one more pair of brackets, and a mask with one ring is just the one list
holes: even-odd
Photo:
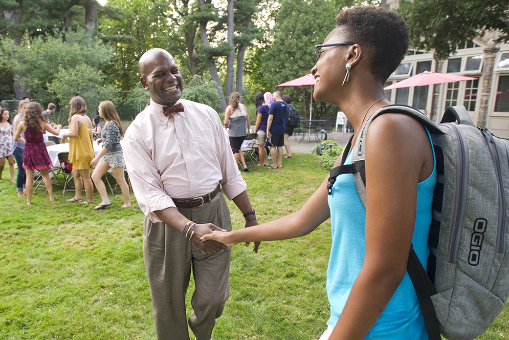
[[(326, 176), (319, 162), (294, 153), (282, 169), (249, 165), (242, 176), (258, 222), (297, 211)], [(0, 180), (0, 339), (156, 339), (143, 266), (143, 214), (134, 195), (132, 207), (120, 208), (119, 195), (111, 207), (95, 211), (65, 202), (73, 193), (62, 198), (58, 186), (59, 200), (49, 202), (42, 187), (32, 196), (34, 205), (26, 206), (8, 178), (7, 167)], [(94, 201), (100, 202), (97, 193)], [(228, 204), (233, 228), (243, 227), (241, 214)], [(329, 229), (327, 221), (300, 239), (263, 242), (258, 254), (251, 246), (234, 246), (230, 299), (214, 339), (317, 339), (329, 313)], [(479, 337), (503, 338), (509, 338), (507, 307)]]

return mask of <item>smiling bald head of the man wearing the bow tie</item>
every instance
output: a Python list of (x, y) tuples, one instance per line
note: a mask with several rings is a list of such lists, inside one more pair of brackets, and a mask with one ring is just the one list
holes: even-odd
[(158, 104), (173, 106), (182, 95), (182, 75), (173, 57), (164, 50), (145, 56), (140, 62), (140, 81)]

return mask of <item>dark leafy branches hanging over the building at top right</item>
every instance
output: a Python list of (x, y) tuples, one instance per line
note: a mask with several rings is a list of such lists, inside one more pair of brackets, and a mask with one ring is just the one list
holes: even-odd
[(412, 45), (434, 49), (439, 59), (485, 31), (498, 30), (496, 41), (509, 41), (507, 0), (401, 0), (399, 12), (410, 26)]

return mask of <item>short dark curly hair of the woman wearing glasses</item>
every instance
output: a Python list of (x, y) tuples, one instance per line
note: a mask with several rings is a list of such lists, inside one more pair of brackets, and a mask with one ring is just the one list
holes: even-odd
[(385, 7), (354, 6), (342, 10), (336, 25), (345, 29), (348, 41), (365, 48), (371, 57), (375, 79), (387, 80), (408, 50), (408, 25), (395, 11)]

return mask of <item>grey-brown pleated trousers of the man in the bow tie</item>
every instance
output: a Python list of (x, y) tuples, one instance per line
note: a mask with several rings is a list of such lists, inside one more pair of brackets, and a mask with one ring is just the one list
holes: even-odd
[[(201, 207), (179, 211), (198, 224), (213, 223), (229, 231), (232, 228), (230, 211), (221, 193)], [(143, 260), (158, 340), (188, 340), (188, 323), (197, 340), (211, 338), (215, 319), (223, 313), (229, 296), (230, 256), (231, 249), (207, 255), (181, 232), (145, 217)], [(193, 312), (187, 319), (186, 291), (191, 269), (195, 287)]]

